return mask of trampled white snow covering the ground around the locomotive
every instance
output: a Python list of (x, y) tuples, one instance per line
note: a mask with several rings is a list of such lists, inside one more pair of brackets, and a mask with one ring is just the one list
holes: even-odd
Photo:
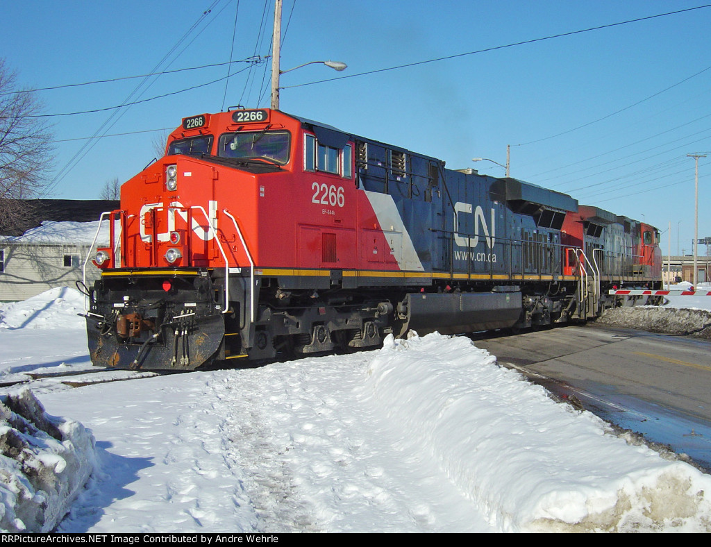
[[(1, 306), (0, 381), (89, 368), (81, 310), (70, 289)], [(0, 391), (7, 400), (21, 389)], [(95, 438), (94, 448), (26, 439), (61, 484), (92, 472), (57, 531), (711, 529), (711, 476), (556, 404), (464, 337), (78, 389), (45, 379), (32, 389), (64, 417), (46, 420), (79, 422)], [(87, 453), (81, 465), (66, 465), (73, 450)], [(6, 514), (27, 497), (10, 460), (0, 457)]]

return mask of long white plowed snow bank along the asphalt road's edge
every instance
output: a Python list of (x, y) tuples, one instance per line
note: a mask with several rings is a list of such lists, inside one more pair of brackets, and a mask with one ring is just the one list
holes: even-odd
[[(388, 337), (368, 371), (380, 411), (430, 447), (501, 531), (710, 531), (711, 477), (556, 404), (465, 337)], [(476, 381), (473, 381), (476, 379)]]

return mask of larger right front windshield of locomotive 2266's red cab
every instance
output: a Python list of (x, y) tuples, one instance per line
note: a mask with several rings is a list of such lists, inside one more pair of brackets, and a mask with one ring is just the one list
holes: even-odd
[(289, 131), (245, 131), (220, 136), (218, 156), (265, 159), (284, 165), (289, 161)]

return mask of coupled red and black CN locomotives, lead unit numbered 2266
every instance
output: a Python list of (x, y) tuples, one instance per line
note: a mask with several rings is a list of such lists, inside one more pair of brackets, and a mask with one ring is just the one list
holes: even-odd
[(661, 282), (647, 224), (269, 109), (183, 119), (105, 216), (87, 332), (109, 367), (565, 323)]

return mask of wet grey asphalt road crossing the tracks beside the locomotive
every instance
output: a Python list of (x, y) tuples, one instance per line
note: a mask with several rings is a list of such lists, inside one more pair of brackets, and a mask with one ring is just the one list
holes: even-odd
[(585, 325), (474, 343), (561, 399), (711, 472), (711, 342)]

